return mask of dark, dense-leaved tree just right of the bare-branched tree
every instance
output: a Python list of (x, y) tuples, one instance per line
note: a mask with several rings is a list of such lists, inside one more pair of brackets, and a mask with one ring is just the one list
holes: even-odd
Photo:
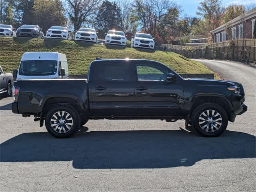
[(100, 37), (111, 29), (122, 30), (121, 10), (116, 2), (103, 1), (94, 23)]

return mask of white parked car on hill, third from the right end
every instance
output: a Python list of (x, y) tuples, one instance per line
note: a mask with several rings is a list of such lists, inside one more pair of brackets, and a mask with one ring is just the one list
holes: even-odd
[(80, 28), (75, 35), (75, 40), (80, 40), (80, 41), (89, 41), (89, 42), (94, 42), (96, 43), (98, 39), (98, 36), (96, 34), (95, 29), (90, 29), (90, 28)]

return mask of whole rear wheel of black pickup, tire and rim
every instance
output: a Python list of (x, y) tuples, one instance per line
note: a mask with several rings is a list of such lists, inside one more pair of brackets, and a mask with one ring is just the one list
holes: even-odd
[[(63, 116), (61, 116), (59, 118), (59, 116), (56, 115), (57, 112), (62, 112), (61, 115), (63, 115)], [(70, 116), (68, 116), (68, 114), (66, 114), (65, 112), (71, 116), (72, 120), (70, 120)], [(54, 118), (54, 115), (55, 115), (55, 117), (58, 118), (58, 120), (66, 118), (67, 122), (64, 121), (65, 123), (64, 123), (64, 125), (62, 125), (62, 127), (61, 127), (61, 125), (54, 126), (54, 124), (53, 124), (54, 121), (52, 121)], [(54, 136), (56, 138), (69, 138), (72, 135), (74, 135), (75, 132), (78, 130), (78, 128), (80, 127), (80, 122), (81, 122), (80, 116), (78, 115), (78, 113), (72, 106), (59, 105), (59, 106), (55, 106), (52, 109), (50, 109), (49, 112), (46, 114), (45, 126), (46, 126), (47, 131), (52, 136)], [(70, 126), (68, 124), (72, 124), (72, 126)], [(56, 127), (58, 127), (58, 128), (55, 131), (54, 129)]]

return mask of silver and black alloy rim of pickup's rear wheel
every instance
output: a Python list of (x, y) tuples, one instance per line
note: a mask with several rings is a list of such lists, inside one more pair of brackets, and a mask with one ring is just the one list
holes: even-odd
[(66, 111), (58, 111), (52, 115), (51, 126), (57, 133), (66, 133), (73, 126), (73, 118)]

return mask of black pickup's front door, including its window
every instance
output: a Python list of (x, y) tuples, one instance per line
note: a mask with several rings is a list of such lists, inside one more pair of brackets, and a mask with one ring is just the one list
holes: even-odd
[(145, 61), (136, 64), (135, 101), (137, 114), (147, 116), (179, 116), (184, 107), (182, 79), (166, 82), (171, 73), (166, 66)]

